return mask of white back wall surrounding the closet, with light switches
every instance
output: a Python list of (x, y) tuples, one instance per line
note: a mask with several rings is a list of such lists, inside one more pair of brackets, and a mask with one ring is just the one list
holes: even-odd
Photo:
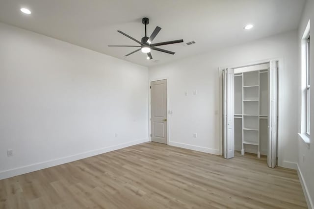
[[(296, 168), (298, 159), (298, 33), (280, 34), (150, 68), (149, 79), (168, 78), (169, 144), (220, 153), (218, 67), (281, 58), (279, 72), (279, 162)], [(193, 47), (193, 46), (189, 46)], [(197, 95), (193, 91), (197, 90)], [(184, 92), (188, 96), (184, 96)], [(193, 138), (197, 133), (197, 138)]]

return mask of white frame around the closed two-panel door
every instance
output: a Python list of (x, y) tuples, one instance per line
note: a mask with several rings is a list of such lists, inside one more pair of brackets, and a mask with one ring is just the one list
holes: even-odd
[(151, 112), (151, 82), (153, 81), (159, 81), (159, 80), (166, 80), (166, 87), (167, 87), (167, 145), (169, 145), (169, 130), (170, 130), (170, 126), (169, 126), (169, 122), (170, 122), (170, 118), (169, 118), (169, 85), (168, 85), (168, 82), (169, 82), (169, 78), (168, 77), (162, 77), (162, 78), (152, 78), (152, 79), (149, 79), (148, 80), (148, 141), (152, 141), (152, 137), (151, 137), (151, 134), (152, 134), (152, 121), (151, 121), (151, 118), (152, 118), (152, 112)]

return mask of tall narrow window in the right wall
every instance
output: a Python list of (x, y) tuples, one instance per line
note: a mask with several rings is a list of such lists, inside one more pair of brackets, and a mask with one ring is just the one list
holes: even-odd
[(310, 135), (310, 36), (306, 42), (306, 133)]

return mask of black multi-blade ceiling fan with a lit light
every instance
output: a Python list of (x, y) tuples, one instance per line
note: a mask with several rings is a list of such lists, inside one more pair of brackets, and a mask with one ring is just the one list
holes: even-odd
[[(134, 42), (140, 44), (140, 46), (129, 46), (129, 47), (140, 47), (139, 49), (136, 49), (135, 51), (132, 51), (131, 53), (125, 55), (125, 57), (141, 50), (143, 53), (147, 53), (147, 58), (148, 60), (153, 59), (152, 54), (151, 54), (151, 49), (152, 50), (156, 50), (156, 51), (161, 51), (161, 52), (165, 52), (168, 54), (175, 54), (175, 52), (173, 51), (168, 51), (162, 48), (157, 48), (156, 46), (163, 46), (163, 45), (169, 45), (169, 44), (176, 44), (176, 43), (182, 43), (183, 39), (180, 40), (175, 40), (175, 41), (168, 41), (168, 42), (160, 42), (160, 43), (156, 43), (156, 44), (152, 44), (153, 40), (155, 39), (155, 37), (157, 36), (157, 34), (159, 33), (159, 31), (161, 30), (161, 27), (156, 27), (155, 30), (153, 31), (152, 35), (150, 37), (147, 37), (146, 35), (146, 25), (149, 24), (149, 19), (148, 18), (143, 18), (142, 19), (142, 23), (145, 24), (145, 36), (142, 38), (141, 42), (137, 41), (136, 39), (134, 39), (133, 37), (129, 36), (128, 34), (117, 30), (119, 33), (121, 33), (122, 35), (125, 35), (126, 37), (132, 39)], [(109, 45), (109, 46), (117, 46), (117, 45)]]

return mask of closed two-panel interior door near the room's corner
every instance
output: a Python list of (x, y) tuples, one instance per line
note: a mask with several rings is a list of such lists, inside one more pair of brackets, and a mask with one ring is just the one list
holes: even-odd
[(152, 141), (167, 144), (167, 80), (151, 82)]

